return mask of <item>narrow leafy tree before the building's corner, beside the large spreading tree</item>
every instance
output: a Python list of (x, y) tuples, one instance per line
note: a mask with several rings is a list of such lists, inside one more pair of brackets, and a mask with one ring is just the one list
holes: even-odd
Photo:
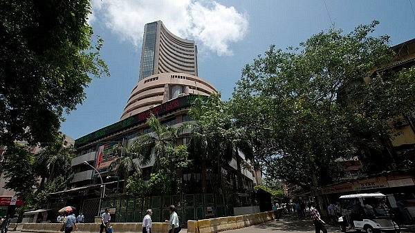
[[(212, 189), (223, 187), (221, 168), (228, 165), (236, 151), (239, 132), (232, 128), (228, 106), (221, 101), (219, 93), (210, 97), (198, 97), (194, 100), (189, 115), (194, 123), (185, 123), (181, 130), (190, 130), (190, 159), (201, 161), (202, 190), (206, 190), (210, 180)], [(214, 177), (208, 176), (214, 175)]]

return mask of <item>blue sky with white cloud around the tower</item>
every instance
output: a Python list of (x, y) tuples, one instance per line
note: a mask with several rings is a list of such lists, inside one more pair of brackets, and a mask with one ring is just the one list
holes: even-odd
[(387, 34), (391, 45), (415, 38), (415, 0), (92, 0), (89, 23), (104, 39), (102, 59), (111, 77), (94, 79), (86, 100), (65, 116), (61, 131), (78, 139), (119, 121), (138, 82), (142, 31), (161, 20), (179, 37), (196, 41), (199, 77), (232, 96), (244, 65), (276, 48), (297, 46), (334, 24), (344, 33), (380, 21), (373, 36)]

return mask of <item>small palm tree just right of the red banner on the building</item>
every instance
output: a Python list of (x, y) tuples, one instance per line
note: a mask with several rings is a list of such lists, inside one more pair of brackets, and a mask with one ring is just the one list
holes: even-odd
[(134, 161), (134, 159), (140, 159), (141, 156), (138, 152), (132, 150), (132, 148), (125, 148), (121, 144), (114, 145), (113, 152), (118, 154), (118, 156), (109, 165), (108, 170), (116, 168), (116, 176), (124, 176), (123, 188), (125, 189), (127, 179), (131, 174), (142, 173), (140, 166)]

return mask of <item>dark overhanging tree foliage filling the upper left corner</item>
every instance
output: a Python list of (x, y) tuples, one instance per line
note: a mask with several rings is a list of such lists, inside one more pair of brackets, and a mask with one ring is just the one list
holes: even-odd
[(109, 75), (90, 13), (88, 0), (0, 1), (1, 145), (53, 141), (90, 75)]

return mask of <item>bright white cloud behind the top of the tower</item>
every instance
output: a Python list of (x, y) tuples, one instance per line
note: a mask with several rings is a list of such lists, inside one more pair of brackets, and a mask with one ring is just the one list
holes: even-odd
[(201, 50), (232, 55), (230, 43), (248, 32), (248, 16), (216, 1), (93, 0), (92, 26), (104, 23), (122, 40), (140, 46), (146, 23), (161, 20), (178, 37), (192, 39)]

